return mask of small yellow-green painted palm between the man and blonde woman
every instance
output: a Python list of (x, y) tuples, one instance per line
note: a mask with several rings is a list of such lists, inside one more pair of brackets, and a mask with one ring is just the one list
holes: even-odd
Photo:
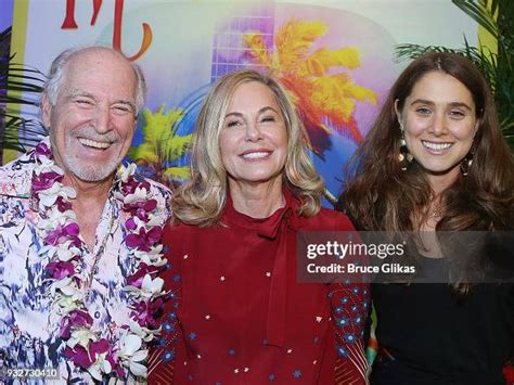
[(181, 110), (164, 113), (160, 105), (154, 114), (143, 111), (143, 143), (130, 147), (128, 156), (142, 168), (143, 174), (167, 185), (176, 185), (190, 177), (189, 166), (179, 166), (178, 161), (190, 150), (192, 134), (178, 136)]

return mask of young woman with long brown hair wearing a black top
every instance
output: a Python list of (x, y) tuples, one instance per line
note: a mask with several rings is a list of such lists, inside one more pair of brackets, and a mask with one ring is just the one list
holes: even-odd
[[(502, 367), (514, 352), (513, 285), (491, 283), (484, 265), (477, 271), (463, 262), (466, 247), (441, 236), (514, 226), (513, 155), (480, 73), (452, 53), (413, 61), (355, 159), (339, 208), (361, 230), (417, 234), (412, 257), (439, 280), (373, 285), (381, 348), (372, 384), (504, 385)], [(436, 242), (424, 247), (427, 238)], [(512, 268), (512, 243), (492, 246), (480, 260)]]

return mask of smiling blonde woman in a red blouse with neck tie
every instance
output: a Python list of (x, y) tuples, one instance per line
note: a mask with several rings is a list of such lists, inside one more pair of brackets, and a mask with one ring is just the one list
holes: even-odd
[(254, 70), (219, 79), (164, 235), (170, 299), (153, 383), (365, 382), (365, 285), (296, 279), (299, 229), (354, 229), (320, 208), (323, 190), (280, 84)]

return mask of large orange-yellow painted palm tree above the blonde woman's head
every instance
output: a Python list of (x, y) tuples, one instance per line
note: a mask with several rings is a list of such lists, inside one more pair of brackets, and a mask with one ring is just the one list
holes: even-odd
[(250, 60), (267, 67), (287, 88), (305, 123), (308, 144), (321, 158), (331, 147), (333, 130), (360, 143), (362, 134), (354, 115), (356, 104), (377, 102), (373, 90), (357, 85), (348, 72), (336, 70), (360, 66), (357, 49), (319, 48), (311, 52), (316, 40), (326, 31), (322, 22), (292, 18), (275, 34), (275, 51), (267, 47), (259, 33), (248, 33), (243, 38)]

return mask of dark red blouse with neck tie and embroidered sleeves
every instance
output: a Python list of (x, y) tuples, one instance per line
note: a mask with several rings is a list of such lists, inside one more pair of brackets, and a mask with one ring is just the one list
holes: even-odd
[(340, 213), (299, 217), (299, 201), (255, 219), (230, 200), (221, 223), (168, 226), (169, 291), (151, 384), (363, 384), (363, 284), (298, 283), (298, 230), (354, 230)]

